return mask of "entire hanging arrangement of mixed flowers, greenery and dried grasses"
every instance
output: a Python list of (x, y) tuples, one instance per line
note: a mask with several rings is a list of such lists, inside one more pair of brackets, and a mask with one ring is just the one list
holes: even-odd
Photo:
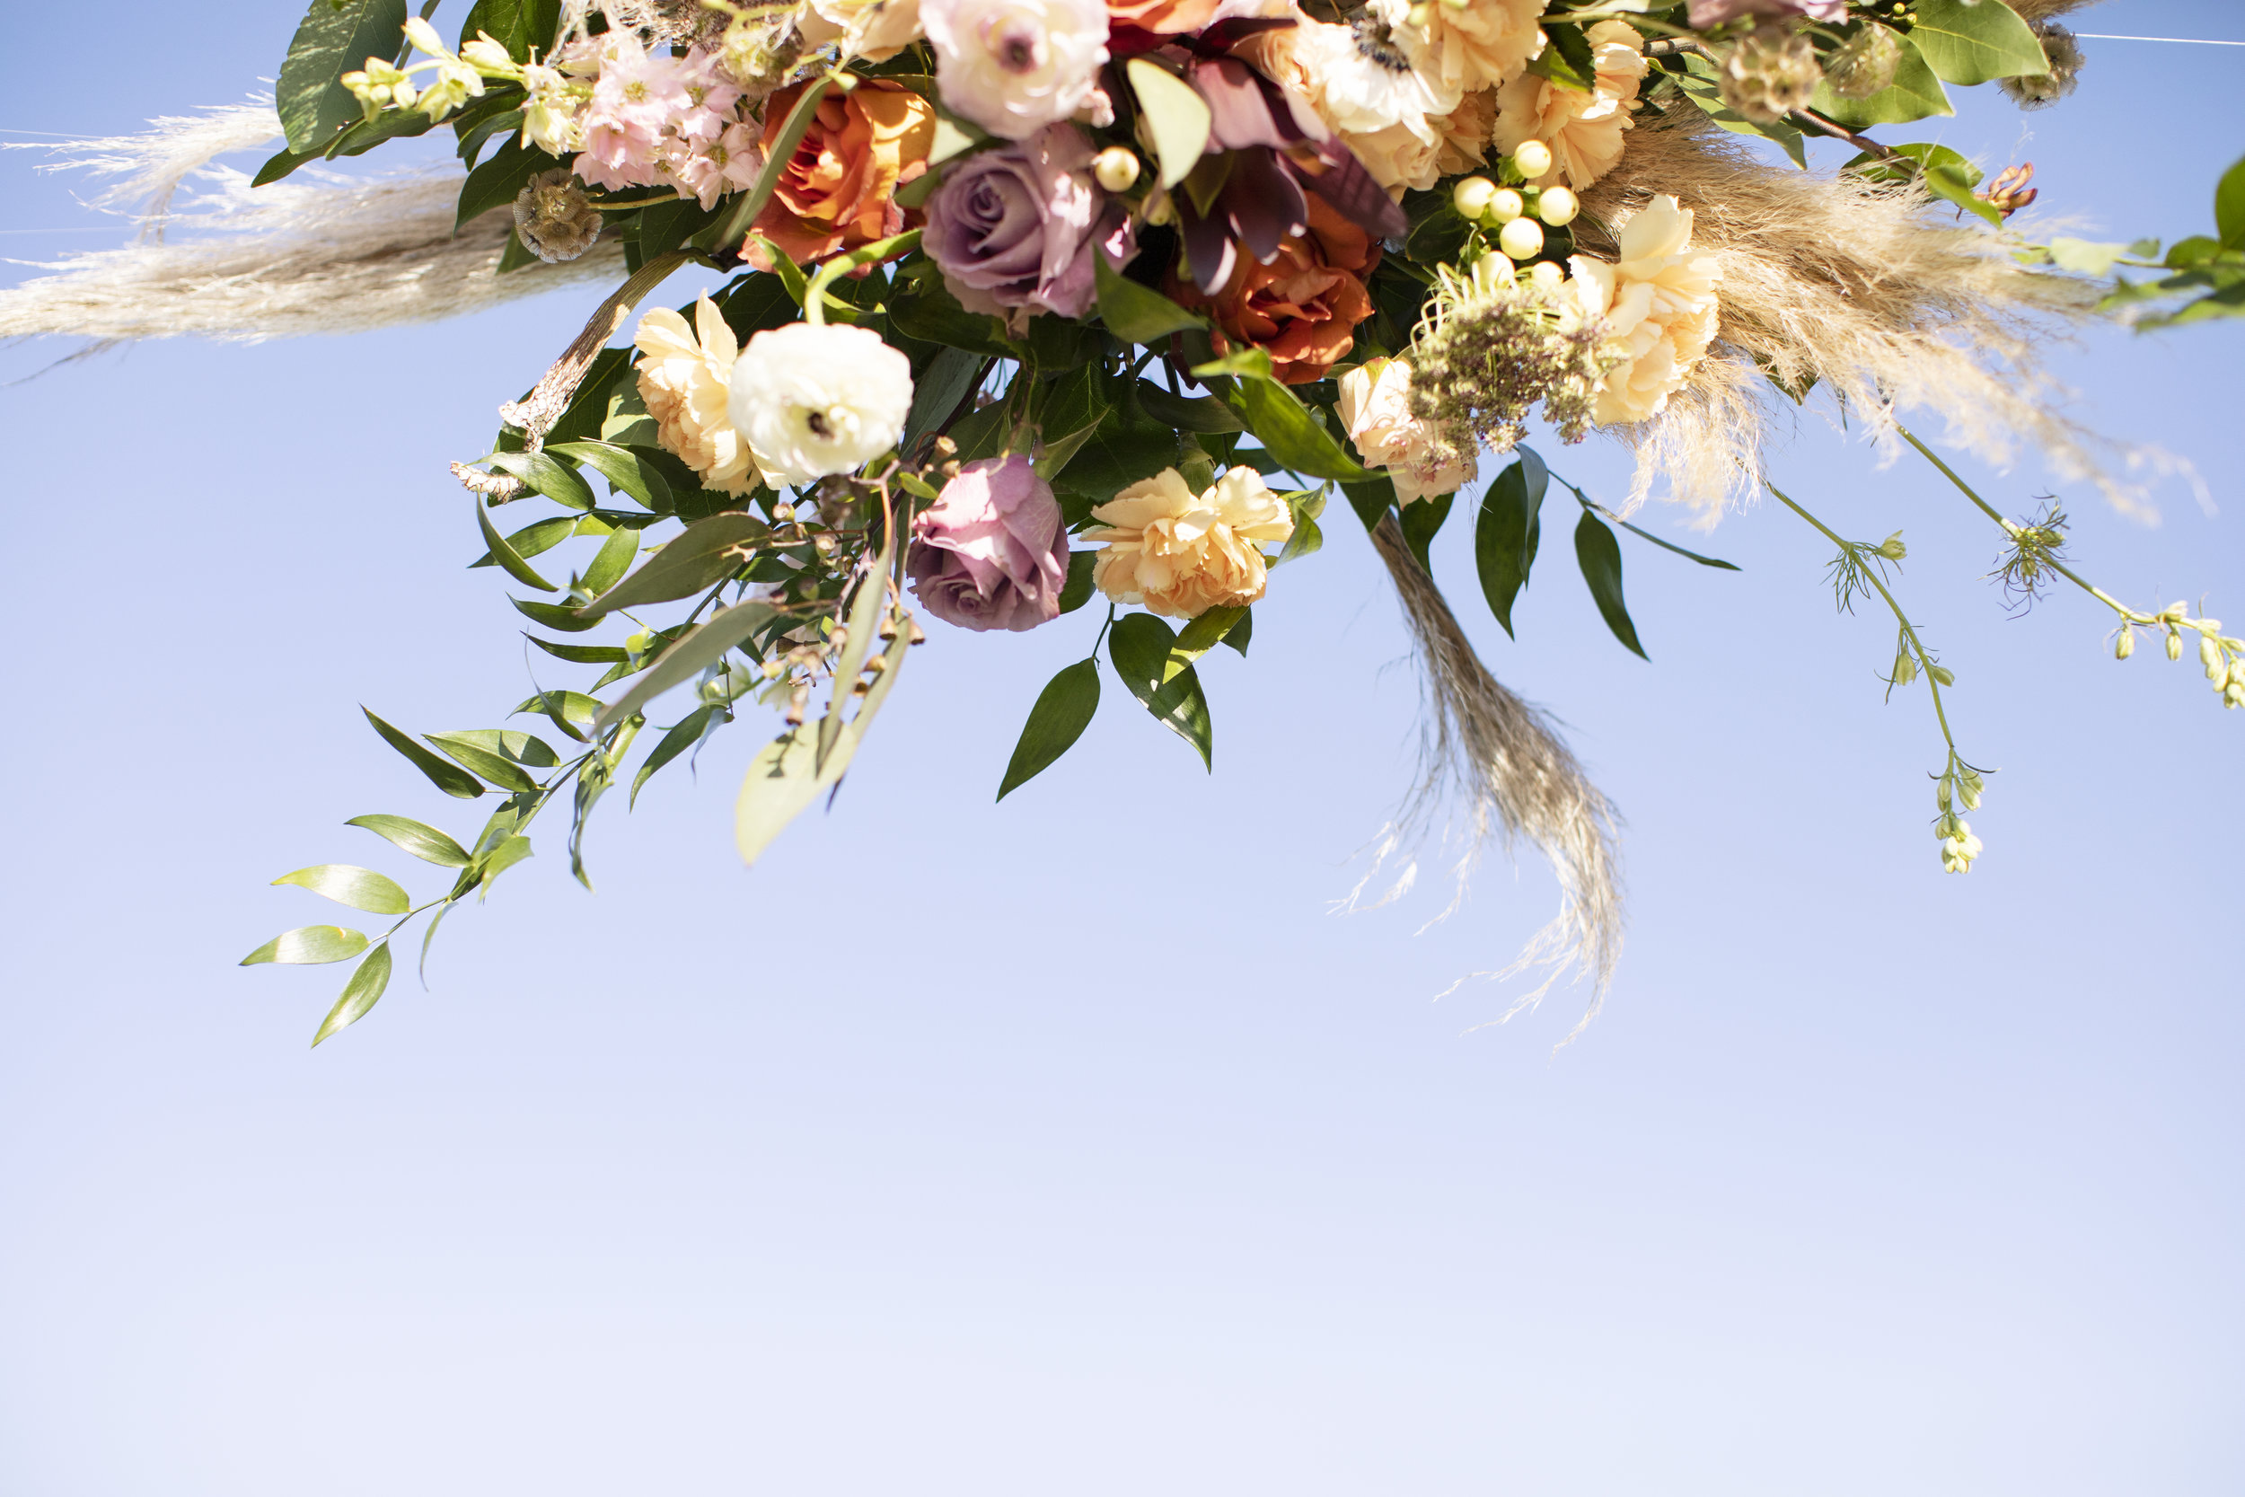
[[(611, 788), (638, 797), (766, 709), (781, 732), (736, 806), (754, 862), (853, 765), (923, 617), (1087, 640), (1028, 707), (999, 797), (1066, 754), (1107, 671), (1212, 765), (1194, 662), (1248, 651), (1255, 604), (1325, 545), (1336, 496), (1426, 669), (1426, 774), (1381, 866), (1408, 878), (1453, 817), (1473, 848), (1529, 837), (1563, 909), (1520, 965), (1576, 961), (1603, 990), (1612, 810), (1430, 577), (1459, 496), (1506, 631), (1547, 498), (1572, 496), (1576, 566), (1637, 653), (1623, 532), (1729, 566), (1628, 518), (1657, 485), (1708, 516), (1767, 492), (1814, 525), (1841, 608), (1895, 615), (1890, 691), (1924, 680), (1946, 745), (1933, 833), (1964, 873), (1987, 772), (1960, 754), (1953, 676), (1895, 595), (1902, 536), (1845, 539), (1769, 483), (1774, 399), (1830, 399), (1917, 449), (2000, 530), (2014, 595), (2081, 586), (2115, 610), (2119, 658), (2139, 631), (2169, 658), (2191, 646), (2223, 705), (2245, 705), (2245, 642), (2184, 604), (2095, 588), (2061, 512), (2005, 516), (1902, 424), (1940, 408), (1955, 442), (2034, 447), (2133, 503), (2034, 370), (2036, 332), (2245, 310), (2245, 164), (2216, 193), (2216, 236), (2160, 256), (2029, 240), (2009, 220), (2036, 195), (2032, 166), (1982, 182), (1949, 148), (1868, 135), (1951, 112), (1949, 88), (2065, 97), (2070, 0), (478, 0), (451, 43), (433, 9), (314, 0), (281, 70), (285, 148), (222, 184), (233, 247), (92, 256), (0, 299), (0, 332), (267, 337), (622, 276), (501, 406), (492, 451), (451, 469), (476, 566), (528, 593), (514, 606), (546, 655), (593, 676), (516, 707), (541, 732), (415, 736), (368, 714), (438, 790), (498, 808), (458, 839), (352, 821), (447, 871), (422, 900), (350, 864), (278, 880), (395, 918), (375, 936), (294, 929), (247, 958), (357, 961), (314, 1044), (382, 997), (409, 920), (433, 936), (530, 855), (550, 806), (584, 878)], [(274, 110), (162, 123), (162, 146), (126, 159), (159, 218)], [(420, 184), (285, 182), (436, 128), (467, 166), (442, 204)], [(1857, 157), (1803, 171), (1818, 135)], [(359, 238), (310, 229), (321, 211)], [(685, 265), (721, 290), (642, 312)], [(1637, 451), (1623, 507), (1551, 474), (1524, 444), (1533, 415), (1563, 444)]]

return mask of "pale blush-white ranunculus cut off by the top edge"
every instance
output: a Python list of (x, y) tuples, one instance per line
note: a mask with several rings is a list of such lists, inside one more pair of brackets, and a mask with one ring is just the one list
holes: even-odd
[(1091, 101), (1107, 65), (1102, 0), (920, 0), (943, 103), (1028, 139)]

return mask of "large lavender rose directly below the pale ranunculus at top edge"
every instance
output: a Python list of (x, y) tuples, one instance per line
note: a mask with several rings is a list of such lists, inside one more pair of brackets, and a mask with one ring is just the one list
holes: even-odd
[(1091, 141), (1071, 123), (961, 162), (927, 200), (923, 247), (970, 312), (1082, 316), (1093, 247), (1138, 254), (1129, 213), (1091, 180)]

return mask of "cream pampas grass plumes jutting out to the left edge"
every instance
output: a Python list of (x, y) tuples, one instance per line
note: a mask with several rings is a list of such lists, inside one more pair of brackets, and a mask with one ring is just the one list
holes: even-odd
[[(303, 168), (251, 189), (218, 155), (278, 139), (272, 101), (157, 119), (146, 135), (43, 146), (56, 171), (114, 177), (97, 206), (141, 204), (141, 238), (40, 265), (0, 292), (0, 337), (132, 339), (202, 334), (256, 343), (366, 332), (480, 312), (534, 292), (620, 274), (622, 251), (498, 274), (507, 213), (453, 233), (458, 171), (343, 177)], [(193, 202), (175, 204), (193, 180)], [(168, 238), (166, 231), (186, 231)], [(76, 355), (74, 355), (76, 357)]]

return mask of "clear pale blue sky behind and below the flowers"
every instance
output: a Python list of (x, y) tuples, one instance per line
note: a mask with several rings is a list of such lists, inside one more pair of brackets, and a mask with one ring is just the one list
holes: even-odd
[[(135, 2), (97, 36), (20, 9), (0, 126), (61, 132), (238, 99), (299, 13)], [(2081, 25), (2245, 40), (2225, 0)], [(1886, 135), (2034, 159), (2092, 236), (2207, 231), (2245, 49), (2088, 56), (2056, 110), (1982, 90)], [(119, 240), (29, 166), (0, 159), (0, 254)], [(308, 1050), (339, 970), (233, 963), (335, 907), (265, 880), (332, 860), (429, 891), (341, 821), (474, 830), (357, 705), (485, 727), (528, 689), (445, 462), (595, 299), (0, 391), (0, 1490), (2245, 1486), (2245, 714), (2151, 642), (2115, 664), (2072, 590), (2005, 617), (1987, 521), (1816, 417), (1774, 474), (1848, 534), (1904, 530), (1960, 743), (2003, 770), (1987, 855), (1940, 873), (1926, 698), (1881, 705), (1890, 624), (1834, 615), (1783, 509), (1704, 541), (1648, 512), (1744, 568), (1628, 545), (1650, 664), (1565, 545), (1509, 642), (1457, 516), (1437, 572), (1475, 642), (1628, 815), (1628, 954), (1567, 1048), (1583, 990), (1473, 1032), (1506, 990), (1432, 1001), (1549, 918), (1538, 862), (1417, 938), (1432, 891), (1329, 913), (1417, 716), (1336, 507), (1253, 658), (1203, 669), (1215, 777), (1109, 687), (990, 806), (1096, 615), (936, 628), (833, 815), (754, 873), (727, 817), (772, 727), (745, 718), (698, 783), (602, 808), (597, 896), (548, 828), (447, 922), (429, 992), (400, 976)], [(2245, 619), (2241, 359), (2238, 325), (2059, 355), (2090, 422), (2220, 505), (2166, 483), (2139, 525), (2063, 492), (2115, 593)], [(1547, 451), (1621, 496), (1612, 444)], [(1960, 467), (2012, 512), (2050, 483)]]

